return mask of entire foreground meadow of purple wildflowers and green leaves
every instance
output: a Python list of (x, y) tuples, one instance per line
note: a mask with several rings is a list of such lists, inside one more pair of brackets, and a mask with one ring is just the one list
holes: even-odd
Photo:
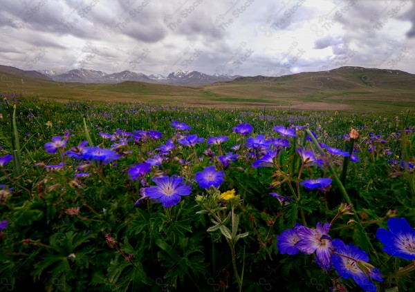
[(0, 95), (1, 291), (414, 291), (411, 110)]

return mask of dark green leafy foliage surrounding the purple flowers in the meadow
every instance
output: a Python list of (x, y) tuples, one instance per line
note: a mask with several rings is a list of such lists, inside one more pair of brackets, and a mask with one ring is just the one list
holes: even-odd
[[(318, 155), (315, 145), (304, 139), (302, 130), (297, 131), (299, 137), (290, 139), (291, 147), (277, 155), (272, 168), (252, 168), (255, 159), (246, 148), (239, 151), (237, 162), (224, 168), (219, 161), (203, 156), (206, 144), (196, 146), (196, 155), (203, 157), (200, 162), (191, 149), (176, 144), (179, 147), (145, 179), (154, 185), (154, 175), (176, 174), (193, 184), (192, 194), (169, 208), (147, 199), (134, 207), (141, 185), (129, 179), (127, 171), (175, 135), (175, 129), (169, 126), (172, 120), (184, 121), (192, 126), (191, 134), (205, 140), (227, 135), (229, 140), (221, 145), (223, 153), (246, 140), (232, 131), (232, 127), (244, 122), (254, 128), (251, 135), (266, 137), (277, 137), (273, 126), (308, 124), (318, 142), (343, 149), (347, 148), (343, 135), (356, 128), (360, 137), (355, 148), (360, 150), (356, 153), (360, 162), (349, 162), (342, 177), (355, 215), (341, 215), (330, 235), (367, 251), (371, 264), (384, 275), (382, 289), (398, 286), (399, 291), (409, 291), (412, 287), (411, 278), (398, 273), (398, 268), (409, 261), (385, 254), (375, 234), (378, 227), (386, 227), (391, 216), (405, 217), (415, 226), (414, 170), (389, 162), (404, 160), (414, 164), (415, 135), (408, 128), (415, 125), (413, 113), (375, 116), (208, 110), (145, 104), (63, 104), (23, 97), (2, 101), (0, 113), (0, 157), (13, 153), (16, 143), (21, 146), (21, 173), (10, 177), (13, 166), (7, 164), (0, 176), (0, 184), (13, 188), (6, 202), (0, 204), (0, 221), (8, 220), (8, 227), (0, 235), (0, 274), (4, 279), (0, 291), (23, 291), (28, 285), (34, 291), (237, 291), (226, 240), (237, 236), (234, 262), (243, 277), (242, 291), (327, 291), (333, 286), (332, 279), (337, 277), (333, 269), (322, 273), (314, 255), (282, 255), (277, 250), (276, 237), (295, 223), (315, 227), (317, 222), (333, 219), (344, 202), (334, 179), (326, 192), (309, 191), (302, 186), (297, 191), (297, 184), (316, 177), (340, 177), (342, 157), (326, 153), (331, 168), (306, 166), (299, 175), (302, 162), (295, 148), (304, 145)], [(46, 125), (48, 121), (51, 126)], [(117, 129), (158, 130), (163, 137), (142, 144), (129, 142), (122, 151), (132, 152), (116, 162), (91, 162), (89, 177), (74, 177), (81, 159), (65, 157), (66, 167), (59, 171), (46, 171), (36, 165), (62, 162), (59, 153), (50, 155), (44, 150), (44, 144), (53, 136), (70, 134), (66, 150), (83, 140), (111, 148), (114, 142), (102, 140), (99, 133), (112, 134)], [(381, 137), (372, 139), (374, 135)], [(371, 146), (376, 150), (369, 151)], [(219, 154), (217, 146), (211, 148)], [(191, 163), (181, 164), (178, 158)], [(207, 191), (194, 181), (194, 175), (213, 164), (225, 172), (219, 191), (233, 188), (242, 200), (234, 208), (238, 224), (233, 231), (229, 221), (212, 222), (210, 213), (196, 204), (196, 196), (206, 195)], [(294, 200), (280, 203), (269, 193)], [(223, 200), (216, 207), (223, 217), (230, 212), (230, 204)], [(72, 215), (70, 208), (74, 208)], [(116, 241), (120, 250), (107, 244), (105, 235)], [(131, 258), (126, 260), (129, 255)], [(346, 284), (349, 291), (359, 291), (351, 280), (338, 281)]]

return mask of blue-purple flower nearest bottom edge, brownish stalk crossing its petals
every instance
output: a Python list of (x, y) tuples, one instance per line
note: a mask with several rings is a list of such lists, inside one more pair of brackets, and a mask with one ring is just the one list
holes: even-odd
[(382, 282), (382, 275), (374, 266), (367, 264), (369, 262), (367, 253), (353, 244), (346, 245), (338, 239), (333, 240), (333, 246), (335, 253), (331, 256), (331, 260), (338, 274), (344, 279), (353, 278), (365, 291), (376, 291), (376, 286), (369, 277)]

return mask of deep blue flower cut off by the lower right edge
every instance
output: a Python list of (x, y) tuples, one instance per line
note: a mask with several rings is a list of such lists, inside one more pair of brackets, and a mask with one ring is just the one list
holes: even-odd
[(378, 228), (376, 237), (385, 244), (383, 250), (389, 255), (415, 260), (415, 231), (405, 218), (390, 218), (387, 222), (389, 230)]

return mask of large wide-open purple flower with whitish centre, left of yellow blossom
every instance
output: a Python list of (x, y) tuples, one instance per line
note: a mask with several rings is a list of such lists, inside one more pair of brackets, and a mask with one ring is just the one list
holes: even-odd
[(145, 188), (145, 196), (149, 199), (159, 199), (163, 207), (174, 206), (181, 200), (182, 195), (190, 195), (192, 186), (182, 183), (183, 177), (154, 177), (157, 186)]

